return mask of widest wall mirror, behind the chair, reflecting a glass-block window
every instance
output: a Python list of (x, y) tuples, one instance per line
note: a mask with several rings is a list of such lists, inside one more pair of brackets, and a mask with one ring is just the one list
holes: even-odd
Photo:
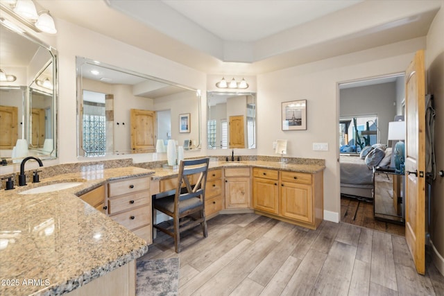
[[(200, 149), (200, 92), (76, 57), (78, 156)], [(187, 145), (185, 145), (187, 143)]]

